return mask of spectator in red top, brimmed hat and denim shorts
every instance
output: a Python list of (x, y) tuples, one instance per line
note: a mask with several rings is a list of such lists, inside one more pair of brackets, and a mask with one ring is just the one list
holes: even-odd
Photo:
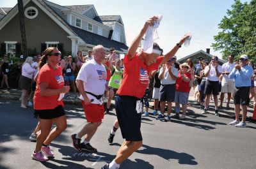
[(180, 104), (182, 105), (182, 116), (180, 119), (186, 118), (188, 96), (190, 91), (189, 81), (192, 79), (191, 73), (189, 73), (189, 68), (190, 66), (186, 62), (180, 64), (180, 70), (175, 84), (175, 110), (180, 110)]

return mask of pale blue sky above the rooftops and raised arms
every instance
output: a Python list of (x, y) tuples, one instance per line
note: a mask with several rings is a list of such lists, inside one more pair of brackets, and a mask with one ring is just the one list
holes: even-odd
[[(192, 38), (188, 47), (183, 47), (175, 54), (178, 59), (193, 54), (198, 50), (222, 57), (220, 51), (214, 51), (211, 44), (221, 19), (231, 9), (234, 0), (49, 0), (61, 5), (93, 4), (98, 15), (121, 15), (125, 27), (127, 46), (140, 33), (143, 24), (153, 15), (163, 15), (157, 29), (159, 39), (156, 42), (169, 52), (180, 38), (188, 31)], [(246, 0), (241, 0), (244, 3)], [(17, 0), (0, 0), (0, 7), (13, 7)]]

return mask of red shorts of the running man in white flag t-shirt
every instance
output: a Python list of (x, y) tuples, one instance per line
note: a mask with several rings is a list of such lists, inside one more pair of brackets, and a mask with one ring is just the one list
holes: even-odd
[(82, 100), (82, 105), (84, 108), (84, 115), (87, 122), (102, 122), (104, 117), (104, 105), (99, 104), (89, 104), (86, 105)]

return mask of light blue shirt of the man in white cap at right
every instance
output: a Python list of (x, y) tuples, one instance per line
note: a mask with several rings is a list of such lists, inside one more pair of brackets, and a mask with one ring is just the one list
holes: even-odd
[(241, 70), (238, 71), (234, 68), (230, 74), (229, 78), (234, 78), (236, 87), (248, 87), (251, 86), (251, 77), (253, 75), (252, 66), (246, 65), (241, 67)]

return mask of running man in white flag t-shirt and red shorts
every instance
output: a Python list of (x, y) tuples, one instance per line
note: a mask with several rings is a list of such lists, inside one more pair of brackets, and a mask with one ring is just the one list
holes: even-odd
[[(105, 89), (109, 90), (106, 85), (106, 68), (102, 65), (104, 57), (104, 47), (102, 45), (95, 46), (93, 59), (83, 64), (76, 78), (77, 89), (81, 93), (80, 99), (88, 122), (79, 133), (71, 136), (73, 146), (78, 151), (97, 152), (97, 149), (90, 145), (90, 140), (104, 117), (102, 95)], [(81, 143), (83, 136), (85, 136), (84, 142)]]

